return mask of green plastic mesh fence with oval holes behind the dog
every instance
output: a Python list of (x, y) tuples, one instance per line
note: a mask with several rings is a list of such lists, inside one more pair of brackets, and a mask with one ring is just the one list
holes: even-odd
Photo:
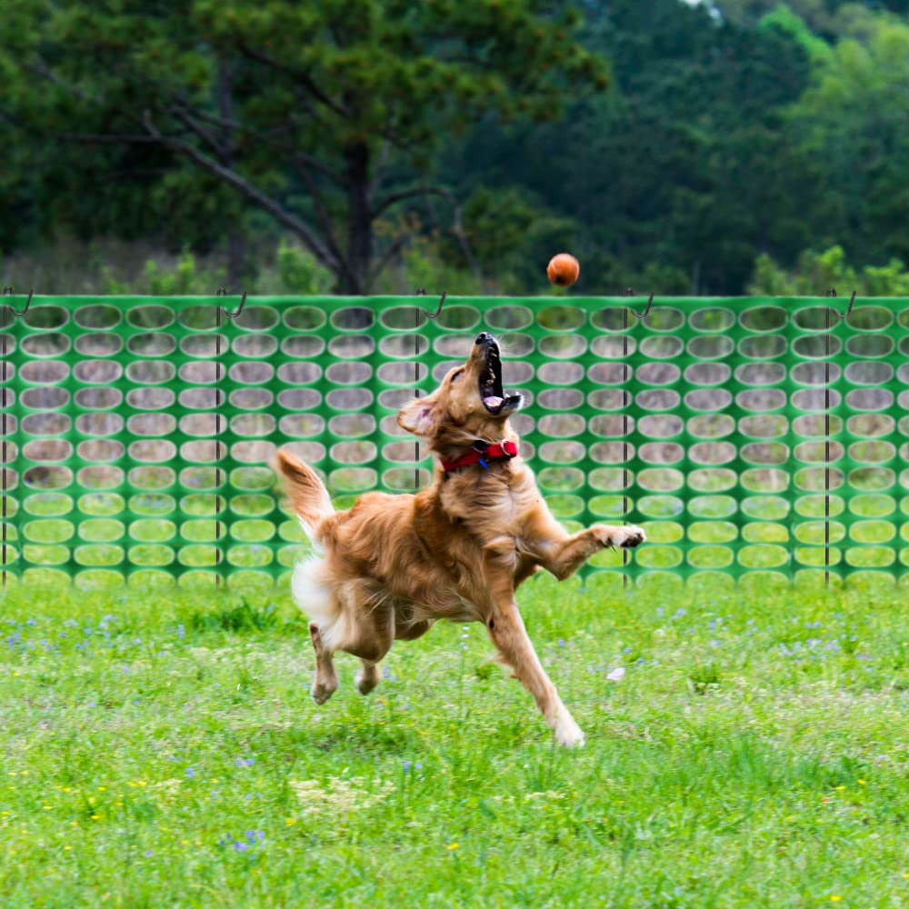
[[(16, 298), (23, 305), (25, 298)], [(286, 445), (339, 507), (430, 463), (395, 412), (504, 343), (524, 455), (569, 527), (643, 524), (630, 581), (909, 565), (909, 300), (35, 297), (0, 322), (3, 572), (83, 582), (286, 575)], [(236, 300), (228, 305), (235, 306)], [(416, 325), (419, 325), (418, 329)], [(418, 356), (415, 356), (415, 353)], [(623, 557), (628, 560), (623, 564)]]

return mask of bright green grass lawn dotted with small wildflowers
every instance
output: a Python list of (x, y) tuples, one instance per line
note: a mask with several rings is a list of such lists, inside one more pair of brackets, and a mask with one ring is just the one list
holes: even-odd
[(285, 594), (11, 586), (3, 905), (909, 905), (906, 594), (594, 584), (521, 597), (580, 752), (476, 624), (316, 707)]

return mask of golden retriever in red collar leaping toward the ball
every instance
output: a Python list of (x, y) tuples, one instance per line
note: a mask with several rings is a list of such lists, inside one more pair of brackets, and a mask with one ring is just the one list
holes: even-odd
[(292, 592), (309, 617), (317, 704), (337, 688), (335, 651), (359, 657), (356, 686), (367, 694), (393, 641), (413, 640), (438, 619), (482, 622), (555, 740), (584, 744), (534, 652), (514, 591), (541, 567), (564, 580), (606, 546), (642, 543), (644, 531), (605, 524), (564, 531), (517, 454), (508, 416), (520, 406), (521, 395), (504, 395), (499, 346), (484, 332), (463, 366), (397, 415), (437, 458), (422, 492), (366, 493), (336, 512), (318, 474), (277, 453), (290, 504), (315, 548), (296, 565)]

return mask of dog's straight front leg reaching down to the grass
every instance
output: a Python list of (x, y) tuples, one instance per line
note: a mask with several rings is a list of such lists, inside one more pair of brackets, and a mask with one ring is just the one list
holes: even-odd
[(514, 602), (514, 584), (507, 559), (502, 555), (487, 554), (484, 567), (490, 593), (485, 622), (502, 661), (511, 666), (514, 677), (534, 695), (540, 713), (553, 730), (555, 741), (568, 747), (580, 747), (584, 744), (584, 734), (562, 703), (527, 636), (524, 620)]

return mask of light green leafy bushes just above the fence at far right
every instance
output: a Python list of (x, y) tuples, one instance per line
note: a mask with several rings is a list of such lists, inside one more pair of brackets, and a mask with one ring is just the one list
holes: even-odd
[(817, 253), (805, 250), (793, 269), (777, 265), (769, 255), (759, 255), (748, 293), (755, 296), (818, 296), (830, 287), (840, 295), (909, 296), (909, 269), (900, 259), (886, 265), (848, 265), (843, 247)]

